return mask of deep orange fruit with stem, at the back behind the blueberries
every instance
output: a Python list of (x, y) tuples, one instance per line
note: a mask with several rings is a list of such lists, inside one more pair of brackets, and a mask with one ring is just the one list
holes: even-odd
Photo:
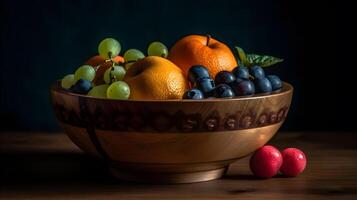
[(220, 71), (232, 71), (238, 66), (227, 45), (202, 35), (189, 35), (177, 41), (170, 49), (168, 59), (180, 67), (186, 77), (193, 65), (207, 67), (212, 78)]

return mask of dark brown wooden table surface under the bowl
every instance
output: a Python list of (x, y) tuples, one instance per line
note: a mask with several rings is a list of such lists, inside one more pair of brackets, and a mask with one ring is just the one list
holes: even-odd
[(357, 199), (357, 133), (280, 132), (270, 144), (305, 151), (305, 172), (259, 180), (246, 157), (220, 180), (154, 185), (112, 178), (63, 133), (0, 133), (0, 199)]

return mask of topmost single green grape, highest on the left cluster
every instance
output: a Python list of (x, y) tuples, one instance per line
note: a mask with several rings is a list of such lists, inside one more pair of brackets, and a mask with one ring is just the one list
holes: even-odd
[(106, 38), (99, 43), (98, 52), (104, 59), (114, 58), (120, 53), (121, 45), (113, 38)]

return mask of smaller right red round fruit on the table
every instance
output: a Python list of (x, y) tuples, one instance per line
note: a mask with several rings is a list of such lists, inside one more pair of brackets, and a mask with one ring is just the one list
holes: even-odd
[(281, 155), (283, 156), (283, 165), (280, 171), (285, 176), (297, 176), (304, 171), (306, 167), (304, 152), (296, 148), (287, 148)]

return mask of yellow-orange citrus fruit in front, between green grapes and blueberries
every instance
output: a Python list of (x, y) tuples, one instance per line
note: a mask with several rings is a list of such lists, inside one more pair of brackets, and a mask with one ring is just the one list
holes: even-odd
[(124, 81), (130, 87), (130, 99), (181, 99), (187, 90), (182, 70), (158, 56), (135, 62), (126, 72)]

